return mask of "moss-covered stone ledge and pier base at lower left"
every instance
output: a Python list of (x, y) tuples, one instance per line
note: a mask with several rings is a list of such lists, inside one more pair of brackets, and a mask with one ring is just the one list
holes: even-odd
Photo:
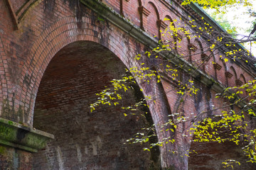
[(0, 118), (0, 169), (32, 169), (32, 153), (46, 147), (53, 135)]

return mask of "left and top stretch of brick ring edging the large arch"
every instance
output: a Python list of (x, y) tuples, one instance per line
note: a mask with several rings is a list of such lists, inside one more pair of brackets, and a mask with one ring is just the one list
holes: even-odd
[[(54, 55), (61, 50), (65, 45), (68, 45), (76, 41), (91, 41), (97, 42), (114, 53), (124, 63), (126, 67), (129, 67), (126, 51), (122, 46), (122, 42), (117, 40), (117, 33), (107, 33), (105, 31), (100, 33), (100, 27), (90, 24), (88, 28), (89, 18), (84, 19), (82, 28), (77, 28), (75, 17), (63, 18), (56, 23), (53, 23), (47, 28), (41, 36), (34, 42), (31, 52), (28, 56), (26, 64), (23, 66), (22, 79), (21, 79), (21, 97), (25, 98), (23, 104), (28, 112), (28, 118), (26, 124), (33, 124), (33, 107), (35, 105), (36, 93), (40, 84), (43, 73), (46, 70), (50, 60)], [(114, 41), (106, 43), (103, 39)], [(121, 39), (121, 37), (119, 38)], [(128, 49), (128, 48), (127, 48)]]

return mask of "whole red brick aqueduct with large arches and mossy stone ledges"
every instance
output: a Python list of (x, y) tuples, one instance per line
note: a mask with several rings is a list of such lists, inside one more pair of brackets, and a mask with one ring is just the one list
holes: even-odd
[[(169, 24), (164, 18), (183, 26), (188, 16), (196, 21), (203, 16), (203, 22), (220, 29), (200, 8), (184, 8), (179, 1), (1, 0), (0, 169), (207, 170), (221, 169), (225, 158), (242, 162), (243, 155), (233, 144), (191, 143), (190, 137), (183, 137), (188, 135), (188, 123), (178, 125), (174, 145), (144, 152), (141, 145), (123, 145), (142, 127), (141, 120), (124, 117), (123, 111), (110, 106), (90, 113), (94, 94), (123, 74), (124, 68), (137, 65), (135, 55), (156, 47), (159, 30)], [(189, 50), (191, 45), (194, 50)], [(195, 54), (193, 62), (208, 43), (203, 38), (191, 42), (183, 38), (181, 47)], [(255, 77), (244, 63), (223, 62), (220, 55), (216, 52), (202, 70), (181, 58), (174, 60), (172, 64), (186, 64), (181, 71), (184, 77), (193, 70), (200, 89), (197, 96), (186, 96), (182, 102), (176, 91), (167, 93), (175, 86), (168, 75), (161, 84), (139, 85), (144, 96), (157, 98), (149, 103), (149, 122), (156, 124), (159, 141), (170, 135), (157, 126), (170, 113), (183, 111), (189, 116), (219, 107), (223, 102), (215, 94), (223, 86), (241, 85)], [(142, 94), (129, 94), (124, 102), (133, 103), (138, 96)], [(171, 149), (176, 153), (171, 154)], [(198, 154), (189, 154), (188, 149)], [(238, 169), (254, 168), (242, 162)]]

